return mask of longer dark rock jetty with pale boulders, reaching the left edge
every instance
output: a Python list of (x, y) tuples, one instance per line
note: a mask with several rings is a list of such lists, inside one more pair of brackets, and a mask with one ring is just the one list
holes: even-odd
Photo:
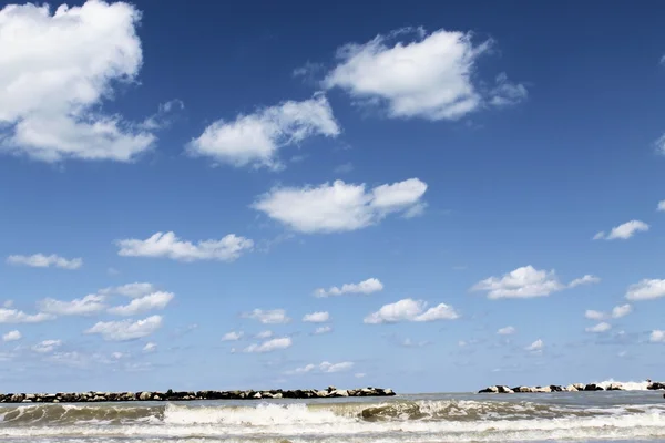
[(135, 401), (195, 401), (195, 400), (268, 400), (268, 399), (334, 399), (341, 396), (392, 396), (395, 391), (381, 388), (325, 390), (296, 389), (284, 391), (140, 391), (140, 392), (59, 392), (54, 394), (0, 394), (0, 403), (90, 403)]

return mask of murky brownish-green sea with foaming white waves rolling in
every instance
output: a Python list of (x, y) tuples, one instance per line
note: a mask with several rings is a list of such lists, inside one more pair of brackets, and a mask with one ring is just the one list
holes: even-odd
[(0, 405), (0, 442), (665, 442), (665, 399), (630, 391)]

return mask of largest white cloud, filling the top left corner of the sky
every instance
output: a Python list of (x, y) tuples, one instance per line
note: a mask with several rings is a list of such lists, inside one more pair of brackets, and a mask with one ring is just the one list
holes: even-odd
[(125, 2), (0, 10), (0, 150), (43, 162), (129, 162), (150, 150), (150, 131), (100, 112), (141, 69), (140, 18)]

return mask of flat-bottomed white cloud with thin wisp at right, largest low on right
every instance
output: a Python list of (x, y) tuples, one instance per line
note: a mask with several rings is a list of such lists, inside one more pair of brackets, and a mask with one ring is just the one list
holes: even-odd
[(554, 270), (538, 270), (524, 266), (501, 277), (490, 277), (475, 284), (472, 291), (487, 291), (489, 299), (546, 297), (566, 288), (600, 281), (597, 277), (584, 276), (564, 285), (559, 281)]

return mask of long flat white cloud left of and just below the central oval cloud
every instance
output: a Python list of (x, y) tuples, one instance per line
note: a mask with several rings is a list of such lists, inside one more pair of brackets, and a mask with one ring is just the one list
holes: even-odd
[(234, 261), (243, 253), (252, 250), (254, 241), (229, 234), (219, 240), (202, 240), (194, 245), (181, 240), (175, 233), (156, 233), (145, 240), (123, 239), (116, 241), (123, 257), (166, 257), (180, 261), (221, 260)]

